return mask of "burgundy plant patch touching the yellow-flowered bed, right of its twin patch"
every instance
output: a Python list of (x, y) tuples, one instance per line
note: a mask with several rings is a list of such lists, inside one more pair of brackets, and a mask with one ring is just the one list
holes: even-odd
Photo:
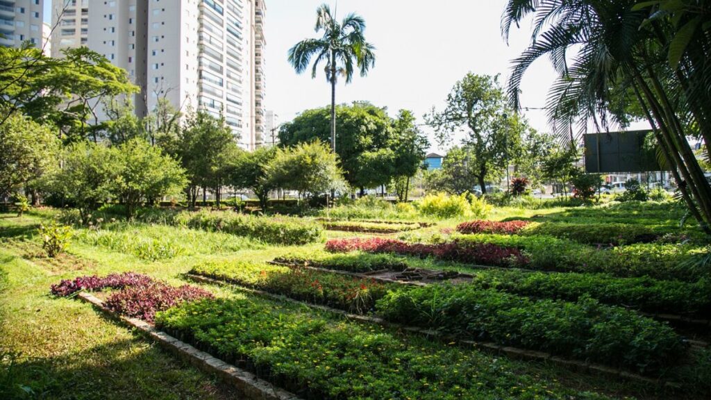
[(191, 285), (179, 288), (160, 282), (147, 285), (129, 286), (113, 293), (105, 304), (109, 310), (129, 317), (154, 322), (156, 312), (165, 311), (186, 301), (214, 298), (212, 293)]

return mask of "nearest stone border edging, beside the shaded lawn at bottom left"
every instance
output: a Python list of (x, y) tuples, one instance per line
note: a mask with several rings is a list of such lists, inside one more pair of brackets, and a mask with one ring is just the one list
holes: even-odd
[(104, 302), (96, 298), (94, 295), (80, 292), (77, 297), (84, 302), (94, 305), (102, 312), (109, 315), (109, 317), (119, 320), (124, 325), (140, 330), (145, 335), (148, 335), (151, 340), (158, 342), (158, 344), (183, 359), (183, 361), (186, 361), (194, 367), (203, 370), (203, 372), (217, 375), (220, 379), (223, 379), (223, 381), (235, 386), (235, 388), (237, 388), (242, 395), (247, 397), (247, 399), (302, 400), (295, 394), (285, 391), (284, 389), (280, 389), (279, 387), (258, 378), (251, 372), (237, 368), (232, 364), (227, 364), (221, 359), (215, 358), (208, 353), (201, 352), (190, 344), (177, 340), (175, 337), (158, 330), (156, 327), (148, 322), (145, 322), (144, 320), (116, 314), (112, 310), (109, 310), (104, 305)]

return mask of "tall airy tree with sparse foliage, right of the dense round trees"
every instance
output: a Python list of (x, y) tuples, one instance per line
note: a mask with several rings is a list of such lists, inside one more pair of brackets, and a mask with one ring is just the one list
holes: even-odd
[(498, 177), (508, 167), (511, 149), (518, 147), (525, 125), (508, 107), (498, 75), (467, 73), (447, 96), (442, 112), (432, 109), (425, 120), (434, 127), (439, 143), (444, 145), (453, 132), (469, 129), (464, 144), (474, 157), (471, 163), (481, 192), (486, 194), (486, 180)]

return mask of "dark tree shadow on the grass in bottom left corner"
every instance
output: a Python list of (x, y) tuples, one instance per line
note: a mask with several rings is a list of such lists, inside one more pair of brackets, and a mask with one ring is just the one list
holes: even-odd
[(11, 356), (0, 349), (0, 399), (240, 398), (215, 377), (138, 338), (56, 357), (13, 362)]

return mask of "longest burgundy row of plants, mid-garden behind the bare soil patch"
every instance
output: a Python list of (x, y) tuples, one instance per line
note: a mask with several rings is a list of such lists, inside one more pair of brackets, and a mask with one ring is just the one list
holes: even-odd
[(331, 239), (326, 242), (326, 250), (333, 253), (365, 251), (368, 253), (395, 253), (405, 256), (434, 257), (439, 260), (451, 260), (460, 263), (475, 263), (496, 266), (522, 266), (528, 264), (528, 258), (518, 248), (503, 247), (491, 243), (460, 246), (457, 242), (449, 243), (407, 243), (387, 238), (348, 238)]

